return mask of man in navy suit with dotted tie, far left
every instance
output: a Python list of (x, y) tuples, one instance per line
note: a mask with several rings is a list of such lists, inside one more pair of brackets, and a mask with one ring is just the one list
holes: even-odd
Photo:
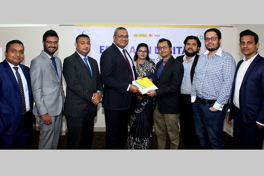
[(0, 63), (0, 149), (30, 149), (33, 96), (29, 68), (22, 65), (24, 45), (19, 40), (6, 44)]

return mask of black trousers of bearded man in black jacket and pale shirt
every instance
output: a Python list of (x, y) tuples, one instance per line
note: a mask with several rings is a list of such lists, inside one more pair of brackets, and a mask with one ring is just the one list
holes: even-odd
[(189, 94), (180, 95), (180, 128), (185, 149), (200, 149), (194, 127), (194, 117)]

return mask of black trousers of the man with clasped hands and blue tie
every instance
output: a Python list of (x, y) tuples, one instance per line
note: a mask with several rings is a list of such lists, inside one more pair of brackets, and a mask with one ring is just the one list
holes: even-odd
[(68, 129), (67, 149), (91, 149), (94, 132), (94, 116), (77, 118), (65, 116)]

